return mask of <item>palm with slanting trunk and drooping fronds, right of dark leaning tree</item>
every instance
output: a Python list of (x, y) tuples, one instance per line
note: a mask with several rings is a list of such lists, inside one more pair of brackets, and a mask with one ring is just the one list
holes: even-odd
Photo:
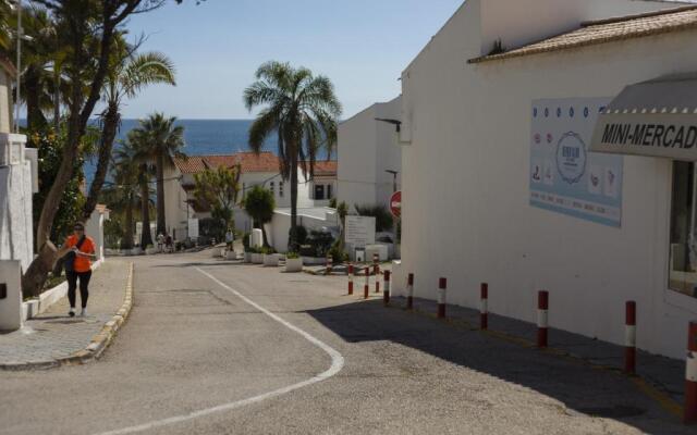
[[(135, 97), (144, 87), (154, 84), (175, 85), (174, 65), (168, 57), (158, 52), (136, 54), (123, 37), (114, 41), (111, 67), (105, 83), (105, 101), (107, 108), (101, 113), (101, 144), (97, 161), (97, 171), (89, 187), (89, 195), (84, 206), (84, 217), (87, 219), (97, 204), (98, 192), (107, 176), (109, 159), (121, 124), (121, 104), (123, 100)], [(161, 179), (158, 173), (158, 179)], [(159, 184), (158, 184), (159, 186)], [(159, 194), (159, 190), (158, 190)], [(158, 195), (159, 201), (160, 195)], [(163, 198), (162, 198), (163, 200)], [(163, 214), (163, 213), (162, 213)], [(158, 223), (159, 223), (158, 209)], [(162, 215), (162, 217), (164, 217)], [(158, 225), (158, 232), (160, 232)]]

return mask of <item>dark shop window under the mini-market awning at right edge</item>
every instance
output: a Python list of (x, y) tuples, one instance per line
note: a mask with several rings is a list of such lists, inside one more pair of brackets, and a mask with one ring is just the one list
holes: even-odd
[(673, 162), (669, 288), (697, 297), (697, 174), (695, 163)]

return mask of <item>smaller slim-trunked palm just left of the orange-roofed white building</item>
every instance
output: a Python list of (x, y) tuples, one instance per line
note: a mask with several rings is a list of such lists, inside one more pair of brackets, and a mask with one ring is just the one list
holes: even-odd
[(167, 233), (164, 221), (164, 166), (174, 164), (174, 158), (185, 158), (184, 127), (175, 125), (176, 117), (163, 113), (150, 114), (140, 120), (134, 129), (138, 135), (140, 156), (155, 164), (157, 177), (157, 234)]

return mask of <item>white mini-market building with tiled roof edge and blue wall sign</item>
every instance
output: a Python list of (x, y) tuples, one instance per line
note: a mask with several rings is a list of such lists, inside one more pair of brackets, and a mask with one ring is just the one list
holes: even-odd
[(645, 116), (636, 137), (655, 153), (677, 142), (665, 123), (697, 125), (695, 80), (614, 100), (697, 71), (697, 9), (677, 5), (468, 0), (448, 21), (402, 74), (402, 259), (417, 296), (435, 298), (444, 276), (449, 302), (474, 308), (488, 282), (492, 312), (535, 322), (547, 289), (552, 327), (615, 344), (635, 300), (638, 346), (684, 357), (697, 316), (697, 154), (685, 144), (697, 128), (672, 158), (589, 152), (614, 137), (592, 139), (608, 104), (625, 124)]

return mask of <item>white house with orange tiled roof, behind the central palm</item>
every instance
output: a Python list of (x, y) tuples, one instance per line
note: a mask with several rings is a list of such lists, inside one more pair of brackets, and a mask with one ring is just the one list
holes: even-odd
[[(174, 167), (166, 171), (164, 179), (164, 208), (168, 232), (175, 239), (186, 238), (188, 219), (205, 219), (210, 216), (210, 211), (201, 208), (194, 199), (194, 174), (220, 165), (233, 167), (241, 165), (240, 200), (244, 192), (252, 187), (261, 185), (271, 190), (276, 199), (277, 209), (290, 209), (291, 189), (289, 182), (284, 181), (279, 172), (279, 158), (272, 152), (237, 152), (224, 156), (189, 156), (187, 159), (174, 159)], [(307, 179), (298, 169), (297, 208), (314, 209), (325, 208), (333, 198), (337, 184), (337, 162), (320, 161), (315, 163), (315, 177)], [(308, 176), (309, 178), (309, 176)], [(249, 232), (252, 222), (244, 210), (239, 207), (234, 210), (235, 227), (239, 231)], [(288, 245), (288, 244), (286, 244)], [(283, 248), (284, 250), (285, 248)]]

